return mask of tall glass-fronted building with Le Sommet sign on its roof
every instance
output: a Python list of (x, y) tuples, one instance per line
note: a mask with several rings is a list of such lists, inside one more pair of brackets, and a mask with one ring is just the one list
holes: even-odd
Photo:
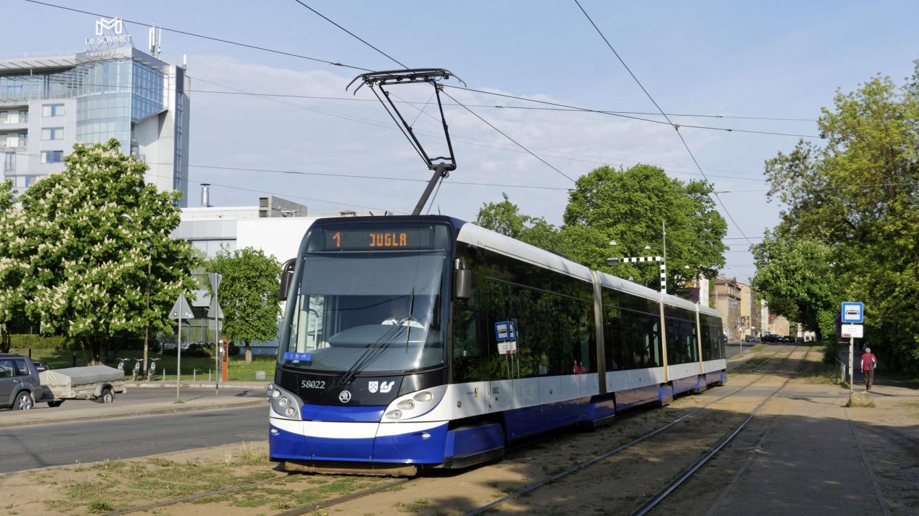
[(189, 87), (184, 67), (131, 46), (0, 58), (2, 178), (27, 189), (74, 143), (116, 138), (150, 166), (147, 182), (187, 194)]

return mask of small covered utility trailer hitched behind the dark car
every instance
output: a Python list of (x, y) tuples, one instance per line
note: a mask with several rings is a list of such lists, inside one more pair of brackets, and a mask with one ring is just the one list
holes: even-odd
[(91, 399), (96, 403), (112, 403), (115, 393), (127, 392), (124, 372), (108, 365), (90, 365), (52, 369), (39, 373), (43, 396), (37, 402), (60, 407), (67, 399)]

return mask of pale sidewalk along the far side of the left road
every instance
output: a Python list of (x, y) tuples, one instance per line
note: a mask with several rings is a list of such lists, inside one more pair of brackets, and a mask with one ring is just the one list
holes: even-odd
[[(156, 385), (167, 386), (165, 385)], [(191, 387), (189, 384), (182, 384), (183, 387)], [(202, 385), (207, 386), (207, 385)], [(213, 387), (213, 384), (210, 385)], [(228, 385), (233, 388), (237, 385)], [(222, 387), (222, 385), (221, 385)], [(239, 388), (245, 388), (242, 384)], [(128, 388), (131, 386), (129, 384)], [(142, 388), (142, 387), (139, 387)], [(176, 388), (176, 384), (172, 384)], [(259, 386), (264, 389), (265, 385)], [(221, 389), (222, 390), (222, 389)], [(102, 405), (88, 400), (74, 400), (68, 403), (81, 403), (85, 407), (76, 410), (55, 410), (54, 408), (40, 410), (16, 410), (0, 414), (0, 428), (19, 427), (24, 425), (41, 425), (49, 423), (65, 423), (71, 421), (85, 421), (86, 419), (112, 419), (112, 418), (129, 418), (137, 416), (150, 416), (153, 414), (176, 414), (181, 412), (195, 412), (199, 410), (216, 410), (219, 408), (233, 407), (267, 407), (267, 399), (260, 397), (239, 397), (239, 396), (183, 396), (183, 403), (175, 401), (139, 401), (133, 403), (119, 402), (110, 405)]]

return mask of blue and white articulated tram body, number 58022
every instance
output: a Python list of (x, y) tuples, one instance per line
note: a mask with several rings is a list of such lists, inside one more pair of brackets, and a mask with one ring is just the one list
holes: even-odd
[(321, 219), (292, 270), (269, 455), (414, 475), (726, 379), (720, 317), (444, 216)]

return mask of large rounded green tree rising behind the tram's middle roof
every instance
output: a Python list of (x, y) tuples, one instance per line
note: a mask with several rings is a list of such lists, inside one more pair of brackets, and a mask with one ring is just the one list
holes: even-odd
[[(578, 178), (562, 226), (562, 252), (591, 269), (660, 287), (660, 273), (641, 264), (607, 265), (607, 258), (662, 256), (666, 223), (667, 284), (679, 292), (724, 265), (727, 223), (709, 197), (711, 185), (668, 178), (657, 166), (600, 166)], [(610, 241), (616, 246), (610, 246)], [(651, 247), (645, 250), (644, 247)]]

